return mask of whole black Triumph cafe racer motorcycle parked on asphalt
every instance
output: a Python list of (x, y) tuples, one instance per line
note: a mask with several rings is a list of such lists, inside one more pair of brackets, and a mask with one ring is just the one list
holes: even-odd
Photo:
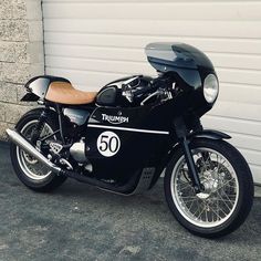
[(150, 43), (145, 52), (158, 76), (119, 79), (97, 93), (63, 77), (30, 80), (22, 101), (42, 106), (7, 129), (15, 174), (36, 191), (70, 177), (127, 196), (154, 187), (165, 170), (178, 222), (201, 237), (228, 234), (250, 212), (253, 180), (230, 136), (200, 124), (219, 93), (213, 65), (184, 43)]

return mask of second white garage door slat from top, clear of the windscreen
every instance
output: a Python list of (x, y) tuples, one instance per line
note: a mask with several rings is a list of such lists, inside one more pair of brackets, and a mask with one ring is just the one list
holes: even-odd
[[(211, 27), (206, 27), (207, 23)], [(140, 27), (142, 24), (142, 27)], [(46, 31), (76, 33), (115, 33), (134, 35), (175, 35), (210, 38), (261, 36), (260, 21), (181, 21), (181, 20), (119, 20), (119, 19), (48, 19)], [(226, 29), (226, 30), (225, 30)]]

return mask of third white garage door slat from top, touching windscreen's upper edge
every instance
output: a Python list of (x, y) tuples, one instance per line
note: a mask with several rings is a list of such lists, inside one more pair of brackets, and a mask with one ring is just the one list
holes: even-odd
[[(44, 39), (53, 44), (76, 44), (77, 46), (109, 46), (143, 49), (148, 42), (155, 41), (184, 41), (195, 43), (201, 50), (218, 53), (261, 54), (260, 39), (218, 39), (197, 36), (160, 36), (160, 35), (123, 35), (123, 34), (88, 34), (45, 31)], [(213, 48), (215, 46), (215, 48)], [(244, 53), (242, 53), (244, 52)]]

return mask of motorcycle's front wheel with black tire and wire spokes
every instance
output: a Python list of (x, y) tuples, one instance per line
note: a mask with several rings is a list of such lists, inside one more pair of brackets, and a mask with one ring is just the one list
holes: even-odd
[(218, 238), (239, 228), (253, 201), (253, 180), (242, 155), (223, 140), (196, 139), (190, 143), (199, 178), (205, 187), (196, 194), (181, 148), (165, 175), (168, 206), (190, 232)]

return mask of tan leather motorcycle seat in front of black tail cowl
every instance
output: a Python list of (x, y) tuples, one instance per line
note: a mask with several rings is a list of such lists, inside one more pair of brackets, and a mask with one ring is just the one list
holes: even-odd
[(61, 104), (88, 104), (94, 102), (96, 92), (83, 92), (74, 88), (71, 83), (52, 82), (48, 88), (45, 98)]

